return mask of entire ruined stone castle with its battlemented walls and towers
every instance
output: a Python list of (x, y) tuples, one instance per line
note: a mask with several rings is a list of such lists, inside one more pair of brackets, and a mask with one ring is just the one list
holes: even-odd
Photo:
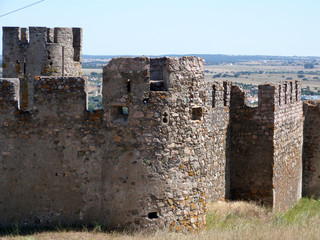
[(318, 107), (304, 121), (300, 82), (259, 86), (248, 107), (238, 86), (204, 80), (201, 58), (114, 58), (88, 111), (81, 29), (3, 30), (0, 228), (196, 231), (209, 201), (284, 210), (317, 192)]

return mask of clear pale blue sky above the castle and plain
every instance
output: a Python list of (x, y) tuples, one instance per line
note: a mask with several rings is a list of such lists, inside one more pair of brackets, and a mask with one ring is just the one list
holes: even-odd
[[(0, 0), (0, 15), (36, 1)], [(0, 23), (82, 27), (84, 54), (320, 56), (319, 0), (45, 0)]]

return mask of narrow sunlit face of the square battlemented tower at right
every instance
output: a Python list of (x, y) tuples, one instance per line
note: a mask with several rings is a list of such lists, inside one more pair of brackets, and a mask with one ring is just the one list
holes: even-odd
[(304, 117), (299, 81), (276, 85), (274, 113), (273, 208), (283, 210), (302, 194)]

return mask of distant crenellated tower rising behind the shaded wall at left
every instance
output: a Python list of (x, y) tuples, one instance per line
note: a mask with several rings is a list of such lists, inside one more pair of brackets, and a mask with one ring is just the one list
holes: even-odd
[(35, 76), (81, 76), (81, 47), (81, 28), (3, 27), (3, 77), (20, 78), (22, 109)]

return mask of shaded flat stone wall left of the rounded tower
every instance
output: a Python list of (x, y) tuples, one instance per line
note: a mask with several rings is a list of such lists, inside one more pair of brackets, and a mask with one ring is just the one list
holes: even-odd
[(13, 103), (0, 116), (1, 227), (90, 224), (99, 215), (103, 155), (85, 100), (84, 79), (42, 77), (34, 112)]

